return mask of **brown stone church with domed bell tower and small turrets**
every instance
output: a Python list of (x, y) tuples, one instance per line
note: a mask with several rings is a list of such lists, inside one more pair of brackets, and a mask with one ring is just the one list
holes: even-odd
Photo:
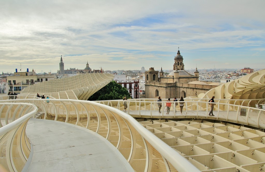
[(196, 68), (194, 75), (184, 70), (183, 57), (178, 50), (174, 58), (173, 71), (167, 76), (162, 71), (155, 71), (153, 67), (145, 72), (145, 98), (183, 98), (198, 96), (200, 93), (206, 93), (214, 85), (189, 84), (193, 81), (199, 81), (199, 72)]

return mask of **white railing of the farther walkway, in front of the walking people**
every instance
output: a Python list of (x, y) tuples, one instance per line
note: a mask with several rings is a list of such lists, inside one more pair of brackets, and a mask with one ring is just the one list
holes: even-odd
[[(160, 102), (162, 103), (162, 113), (158, 113), (156, 100), (157, 99), (148, 99), (148, 101), (146, 101), (146, 99), (129, 99), (127, 100), (127, 113), (133, 117), (139, 118), (209, 118), (249, 125), (263, 129), (265, 128), (265, 124), (262, 122), (263, 120), (265, 120), (264, 109), (257, 109), (253, 107), (227, 103), (210, 103), (215, 104), (213, 111), (215, 116), (212, 117), (208, 116), (211, 109), (208, 101), (184, 101), (182, 114), (180, 114), (179, 101), (171, 101), (172, 105), (170, 108), (170, 113), (166, 114), (166, 112), (164, 111), (166, 107), (166, 101)], [(123, 100), (106, 100), (96, 102), (117, 108), (119, 110), (124, 109)], [(178, 103), (177, 106), (176, 103)]]

